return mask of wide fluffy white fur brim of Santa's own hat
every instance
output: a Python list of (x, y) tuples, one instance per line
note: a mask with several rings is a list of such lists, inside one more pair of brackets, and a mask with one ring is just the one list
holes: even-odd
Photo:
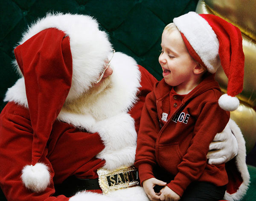
[(100, 31), (98, 22), (88, 15), (47, 14), (28, 28), (19, 45), (47, 28), (58, 28), (70, 38), (73, 76), (67, 99), (77, 98), (97, 80), (111, 54), (108, 35)]

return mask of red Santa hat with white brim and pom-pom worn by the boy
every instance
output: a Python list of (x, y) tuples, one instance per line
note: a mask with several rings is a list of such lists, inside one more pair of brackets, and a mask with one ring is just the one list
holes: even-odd
[(218, 103), (227, 111), (239, 107), (235, 96), (243, 89), (244, 53), (241, 31), (236, 26), (213, 14), (189, 12), (174, 18), (189, 54), (210, 73), (222, 66), (228, 77), (227, 94)]

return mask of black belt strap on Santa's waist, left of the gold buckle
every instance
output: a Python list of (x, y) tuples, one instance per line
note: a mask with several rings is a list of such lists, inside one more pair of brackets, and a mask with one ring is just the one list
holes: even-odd
[(54, 187), (54, 196), (65, 195), (66, 197), (71, 197), (82, 190), (101, 190), (98, 178), (81, 179), (76, 176), (70, 176), (61, 184), (55, 184)]

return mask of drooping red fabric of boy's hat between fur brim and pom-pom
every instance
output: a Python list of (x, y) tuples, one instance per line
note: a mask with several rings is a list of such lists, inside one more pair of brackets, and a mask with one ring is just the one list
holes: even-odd
[(227, 95), (236, 96), (243, 90), (244, 52), (241, 31), (213, 14), (200, 14), (218, 37), (221, 66), (228, 77)]

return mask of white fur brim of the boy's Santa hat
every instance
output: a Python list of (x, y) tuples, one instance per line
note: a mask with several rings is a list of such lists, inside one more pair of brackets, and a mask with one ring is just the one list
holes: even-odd
[(184, 34), (192, 48), (204, 62), (210, 73), (221, 66), (219, 42), (209, 23), (195, 12), (189, 12), (173, 19), (178, 30)]

